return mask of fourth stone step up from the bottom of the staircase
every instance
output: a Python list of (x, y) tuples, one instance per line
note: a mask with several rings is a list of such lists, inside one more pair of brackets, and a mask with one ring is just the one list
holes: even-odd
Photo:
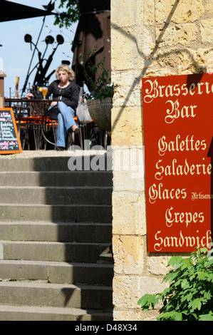
[(96, 263), (108, 243), (0, 241), (0, 259)]

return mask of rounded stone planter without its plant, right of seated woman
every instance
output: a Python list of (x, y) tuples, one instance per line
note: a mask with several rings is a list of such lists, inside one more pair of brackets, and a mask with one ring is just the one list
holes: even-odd
[(88, 110), (93, 122), (103, 130), (111, 130), (111, 109), (113, 103), (110, 98), (103, 100), (88, 100)]

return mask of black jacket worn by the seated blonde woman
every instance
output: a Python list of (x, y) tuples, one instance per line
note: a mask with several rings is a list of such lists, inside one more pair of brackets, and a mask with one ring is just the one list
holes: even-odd
[(53, 81), (48, 86), (48, 93), (46, 95), (46, 99), (53, 94), (53, 99), (63, 101), (66, 105), (70, 106), (71, 108), (75, 109), (78, 106), (78, 96), (79, 90), (76, 83), (73, 81), (66, 88), (58, 87), (58, 83), (60, 81)]

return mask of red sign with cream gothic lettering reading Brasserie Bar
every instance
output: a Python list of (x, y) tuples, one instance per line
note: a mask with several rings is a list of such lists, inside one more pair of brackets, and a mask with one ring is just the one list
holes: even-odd
[(142, 78), (147, 247), (211, 242), (213, 75)]

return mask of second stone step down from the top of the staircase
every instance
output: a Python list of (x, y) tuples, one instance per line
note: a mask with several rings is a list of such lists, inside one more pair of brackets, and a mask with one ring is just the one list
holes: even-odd
[(0, 186), (112, 187), (112, 171), (0, 172)]

